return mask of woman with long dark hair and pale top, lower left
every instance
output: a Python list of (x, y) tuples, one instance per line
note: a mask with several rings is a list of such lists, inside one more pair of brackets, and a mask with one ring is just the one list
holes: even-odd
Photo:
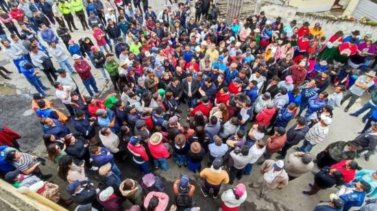
[(80, 182), (87, 180), (85, 175), (84, 164), (77, 166), (73, 163), (71, 156), (62, 156), (58, 166), (58, 176), (70, 184), (78, 180)]

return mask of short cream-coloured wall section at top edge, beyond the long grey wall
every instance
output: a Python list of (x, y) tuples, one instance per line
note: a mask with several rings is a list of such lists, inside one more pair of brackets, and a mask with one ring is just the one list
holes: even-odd
[(289, 5), (297, 12), (324, 12), (331, 9), (335, 0), (290, 0)]

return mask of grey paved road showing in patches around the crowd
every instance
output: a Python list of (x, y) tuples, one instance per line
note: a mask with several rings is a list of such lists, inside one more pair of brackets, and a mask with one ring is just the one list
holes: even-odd
[[(156, 0), (150, 1), (150, 4), (153, 8), (156, 8), (156, 11), (162, 10), (163, 4), (165, 3), (164, 0)], [(78, 20), (75, 20), (77, 27), (81, 28), (80, 23)], [(83, 36), (90, 36), (88, 32), (75, 32), (73, 34), (73, 38), (78, 40)], [(4, 53), (0, 53), (0, 61), (3, 62), (4, 66), (7, 69), (11, 69), (12, 71), (16, 72), (13, 64), (10, 62), (5, 61)], [(8, 64), (7, 64), (8, 63)], [(56, 64), (58, 66), (58, 64)], [(98, 70), (93, 68), (93, 73), (95, 78), (97, 79), (97, 83), (99, 88), (104, 87), (104, 79), (101, 77), (101, 73)], [(34, 88), (31, 88), (27, 81), (24, 79), (22, 75), (18, 73), (13, 73), (10, 75), (12, 77), (11, 81), (5, 81), (3, 78), (0, 78), (0, 123), (3, 125), (8, 125), (8, 127), (14, 129), (16, 132), (19, 132), (23, 137), (21, 139), (21, 149), (23, 151), (29, 151), (31, 153), (36, 153), (41, 156), (45, 156), (45, 146), (42, 143), (42, 130), (40, 129), (40, 125), (38, 124), (38, 119), (34, 116), (34, 113), (31, 110), (30, 101), (32, 93), (36, 92)], [(77, 75), (73, 75), (76, 82), (78, 83), (80, 90), (84, 90), (84, 86), (81, 83), (80, 78)], [(42, 75), (42, 82), (49, 86), (49, 82), (45, 78), (45, 75)], [(5, 85), (5, 86), (4, 86)], [(52, 88), (51, 88), (52, 90)], [(106, 88), (107, 90), (107, 88)], [(107, 90), (109, 91), (109, 90)], [(329, 88), (329, 92), (333, 90)], [(49, 91), (50, 94), (53, 95), (53, 91)], [(84, 94), (86, 94), (84, 92)], [(53, 99), (54, 97), (49, 97), (49, 99)], [(369, 95), (364, 96), (363, 99), (359, 99), (357, 103), (350, 109), (350, 112), (361, 107), (361, 102), (367, 101)], [(56, 102), (56, 106), (58, 108), (64, 108), (64, 106), (56, 99), (53, 99)], [(182, 105), (181, 110), (185, 111), (186, 107)], [(182, 117), (184, 114), (182, 115)], [(184, 118), (182, 118), (184, 119)], [(355, 132), (360, 131), (363, 128), (363, 123), (361, 123), (361, 118), (354, 118), (345, 114), (343, 112), (343, 108), (338, 108), (334, 112), (334, 119), (332, 125), (330, 125), (330, 134), (328, 138), (321, 143), (314, 147), (312, 151), (312, 156), (314, 156), (324, 149), (326, 145), (330, 142), (335, 142), (337, 140), (352, 140), (356, 136)], [(293, 121), (291, 122), (293, 124)], [(71, 125), (69, 125), (71, 127)], [(289, 151), (289, 153), (292, 152)], [(273, 156), (274, 158), (275, 156)], [(363, 158), (357, 159), (359, 164), (363, 166), (365, 169), (377, 169), (376, 162), (373, 162), (375, 156), (369, 162), (365, 162)], [(206, 164), (206, 160), (203, 162)], [(156, 171), (157, 175), (160, 175), (166, 180), (166, 188), (165, 190), (169, 194), (170, 203), (173, 203), (173, 194), (172, 194), (172, 184), (174, 180), (182, 174), (187, 174), (192, 179), (193, 184), (195, 184), (197, 190), (195, 191), (195, 201), (197, 201), (198, 206), (202, 206), (203, 210), (217, 210), (220, 205), (220, 199), (212, 199), (212, 198), (205, 198), (200, 193), (199, 185), (202, 184), (202, 179), (199, 178), (198, 174), (194, 174), (189, 172), (186, 168), (182, 167), (181, 169), (178, 168), (175, 164), (173, 164), (173, 160), (169, 160), (168, 162), (170, 170), (167, 173), (161, 173), (160, 171)], [(135, 168), (134, 164), (130, 159), (126, 160), (125, 162), (119, 164), (121, 171), (123, 173), (123, 177), (132, 177), (137, 179), (139, 182), (141, 181), (141, 175), (138, 173), (137, 169)], [(56, 174), (56, 165), (49, 164), (48, 166), (42, 166), (44, 171), (51, 172)], [(93, 177), (90, 174), (90, 177)], [(252, 175), (245, 176), (239, 182), (245, 182), (245, 184), (249, 184), (250, 182), (255, 181), (260, 177), (259, 168), (255, 166)], [(62, 182), (61, 179), (58, 177), (53, 178), (53, 182), (59, 184), (62, 188), (62, 195), (67, 195), (65, 192), (65, 183)], [(258, 190), (252, 190), (251, 188), (247, 188), (247, 201), (243, 204), (241, 210), (313, 210), (315, 205), (319, 203), (320, 200), (328, 200), (328, 195), (330, 193), (335, 193), (337, 189), (332, 188), (330, 190), (321, 191), (319, 194), (306, 197), (301, 194), (302, 190), (308, 189), (308, 183), (313, 182), (313, 175), (308, 173), (307, 175), (303, 175), (302, 177), (295, 179), (293, 182), (289, 184), (283, 190), (276, 190), (273, 193), (269, 193), (265, 199), (258, 198)], [(237, 181), (235, 182), (237, 184)], [(235, 185), (235, 184), (234, 184)], [(225, 186), (224, 188), (230, 188), (230, 186)], [(70, 210), (73, 210), (74, 206), (70, 207)]]

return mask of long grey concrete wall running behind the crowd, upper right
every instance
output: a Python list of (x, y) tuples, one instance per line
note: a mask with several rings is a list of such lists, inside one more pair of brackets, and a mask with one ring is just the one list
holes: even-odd
[(311, 23), (312, 26), (318, 22), (321, 24), (324, 36), (327, 38), (330, 38), (332, 34), (335, 34), (339, 30), (343, 30), (344, 34), (350, 34), (350, 32), (356, 29), (361, 32), (361, 36), (372, 34), (372, 38), (377, 38), (377, 27), (363, 25), (357, 21), (332, 21), (326, 18), (297, 14), (297, 8), (282, 5), (263, 5), (261, 10), (265, 11), (270, 21), (274, 21), (276, 17), (281, 16), (284, 24), (297, 20), (297, 26), (301, 27), (305, 21)]

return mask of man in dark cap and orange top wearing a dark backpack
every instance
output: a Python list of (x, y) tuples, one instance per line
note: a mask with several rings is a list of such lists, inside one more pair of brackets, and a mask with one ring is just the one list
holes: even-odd
[(178, 208), (191, 208), (193, 206), (193, 195), (195, 186), (189, 183), (189, 176), (182, 175), (180, 179), (175, 180), (173, 184), (175, 194), (175, 204)]

